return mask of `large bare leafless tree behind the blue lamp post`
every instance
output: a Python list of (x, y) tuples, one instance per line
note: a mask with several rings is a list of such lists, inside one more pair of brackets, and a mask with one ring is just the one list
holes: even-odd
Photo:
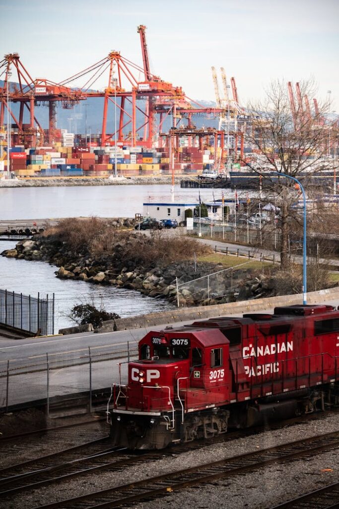
[[(250, 104), (251, 125), (246, 130), (246, 140), (255, 154), (246, 158), (246, 166), (262, 176), (263, 189), (272, 191), (280, 208), (281, 267), (287, 269), (289, 260), (288, 237), (290, 231), (301, 223), (295, 212), (300, 189), (295, 188), (294, 177), (304, 189), (311, 184), (315, 172), (334, 170), (335, 158), (330, 157), (336, 144), (337, 123), (328, 116), (328, 103), (315, 102), (311, 111), (309, 97), (314, 97), (313, 80), (298, 84), (297, 101), (292, 89), (283, 81), (273, 81), (263, 102)], [(272, 176), (272, 172), (278, 176)], [(269, 176), (270, 175), (270, 176)]]

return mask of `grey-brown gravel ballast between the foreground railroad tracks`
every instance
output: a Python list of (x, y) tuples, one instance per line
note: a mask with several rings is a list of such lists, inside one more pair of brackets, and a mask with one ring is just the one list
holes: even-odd
[[(105, 488), (117, 487), (148, 477), (166, 474), (195, 465), (226, 459), (261, 448), (334, 432), (339, 429), (339, 416), (329, 415), (278, 430), (238, 438), (224, 443), (206, 445), (187, 453), (166, 456), (157, 461), (137, 463), (121, 472), (100, 471), (63, 484), (22, 492), (0, 502), (0, 509), (31, 509)], [(52, 452), (52, 451), (51, 451)], [(287, 461), (253, 470), (245, 475), (220, 479), (210, 484), (172, 492), (157, 500), (131, 505), (138, 509), (188, 509), (195, 507), (225, 509), (267, 509), (290, 498), (339, 480), (337, 451), (324, 451), (301, 460)], [(62, 504), (60, 505), (62, 507)]]

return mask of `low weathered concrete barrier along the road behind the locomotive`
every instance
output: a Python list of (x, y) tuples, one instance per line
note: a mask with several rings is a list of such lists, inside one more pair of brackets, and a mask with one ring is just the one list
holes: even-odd
[[(336, 298), (339, 299), (339, 287), (307, 293), (307, 304), (321, 304), (324, 300)], [(104, 322), (100, 329), (95, 330), (95, 332), (139, 329), (153, 325), (199, 320), (201, 318), (228, 316), (236, 313), (250, 313), (259, 311), (260, 309), (291, 304), (302, 304), (302, 294), (243, 300), (239, 302), (230, 302), (229, 304), (215, 304), (213, 306), (181, 307), (169, 311), (162, 311), (161, 313), (150, 313), (138, 317), (108, 320)]]

